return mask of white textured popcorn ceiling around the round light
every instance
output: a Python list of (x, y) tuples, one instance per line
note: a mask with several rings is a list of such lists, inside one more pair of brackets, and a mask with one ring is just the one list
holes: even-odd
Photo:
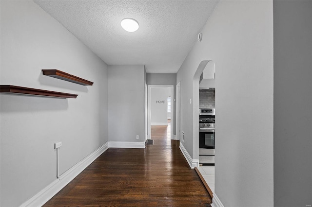
[[(213, 12), (212, 0), (35, 0), (108, 65), (176, 73)], [(120, 26), (139, 23), (137, 32)]]

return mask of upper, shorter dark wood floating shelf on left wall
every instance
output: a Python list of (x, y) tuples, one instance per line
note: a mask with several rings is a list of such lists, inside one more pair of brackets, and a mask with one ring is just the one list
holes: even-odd
[(60, 71), (58, 69), (42, 69), (43, 75), (51, 76), (53, 78), (58, 78), (64, 81), (69, 81), (75, 84), (80, 84), (83, 86), (92, 86), (93, 82), (79, 78), (75, 75)]

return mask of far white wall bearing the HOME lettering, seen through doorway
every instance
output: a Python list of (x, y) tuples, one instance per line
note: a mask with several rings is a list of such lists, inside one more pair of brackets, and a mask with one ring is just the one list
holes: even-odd
[[(151, 125), (168, 125), (167, 98), (170, 95), (170, 87), (151, 88)], [(164, 103), (159, 103), (159, 101), (164, 101)]]

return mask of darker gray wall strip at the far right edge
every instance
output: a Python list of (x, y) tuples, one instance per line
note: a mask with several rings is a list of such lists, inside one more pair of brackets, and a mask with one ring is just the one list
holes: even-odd
[(274, 206), (312, 205), (312, 1), (273, 1)]

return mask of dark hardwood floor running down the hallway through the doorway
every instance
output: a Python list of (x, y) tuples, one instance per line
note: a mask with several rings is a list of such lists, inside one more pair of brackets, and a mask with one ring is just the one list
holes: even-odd
[(153, 145), (108, 149), (44, 206), (210, 207), (179, 141), (170, 140), (170, 125), (151, 130)]

